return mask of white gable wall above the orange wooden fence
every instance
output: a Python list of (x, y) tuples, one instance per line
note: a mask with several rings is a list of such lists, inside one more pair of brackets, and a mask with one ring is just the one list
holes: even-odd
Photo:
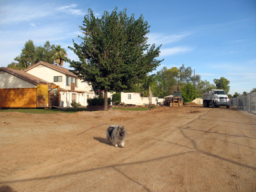
[(29, 83), (19, 77), (13, 76), (8, 72), (0, 70), (0, 88), (36, 88), (33, 83)]

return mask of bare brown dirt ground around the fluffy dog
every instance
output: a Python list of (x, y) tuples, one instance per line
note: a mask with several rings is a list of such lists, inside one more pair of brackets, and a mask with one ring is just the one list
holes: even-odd
[(236, 108), (1, 112), (0, 128), (0, 191), (256, 191), (256, 115)]

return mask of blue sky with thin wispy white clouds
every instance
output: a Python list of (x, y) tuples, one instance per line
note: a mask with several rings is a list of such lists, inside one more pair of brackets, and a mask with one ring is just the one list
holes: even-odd
[(77, 60), (68, 46), (79, 43), (88, 9), (101, 17), (115, 7), (135, 19), (143, 15), (150, 26), (148, 44), (162, 45), (157, 60), (164, 61), (153, 73), (184, 64), (203, 81), (225, 77), (231, 95), (256, 88), (255, 0), (0, 0), (0, 67), (12, 63), (28, 40), (36, 46), (49, 40)]

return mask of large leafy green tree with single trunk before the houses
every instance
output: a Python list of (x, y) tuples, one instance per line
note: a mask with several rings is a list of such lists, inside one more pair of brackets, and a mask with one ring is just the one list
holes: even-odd
[(108, 110), (108, 90), (125, 90), (134, 83), (143, 83), (149, 78), (148, 72), (156, 70), (161, 61), (160, 47), (147, 44), (148, 22), (142, 15), (139, 19), (127, 17), (126, 9), (104, 12), (95, 17), (91, 9), (85, 15), (84, 36), (78, 36), (81, 44), (74, 42), (68, 47), (78, 56), (79, 61), (69, 61), (77, 76), (92, 84), (94, 91), (104, 90), (104, 109)]

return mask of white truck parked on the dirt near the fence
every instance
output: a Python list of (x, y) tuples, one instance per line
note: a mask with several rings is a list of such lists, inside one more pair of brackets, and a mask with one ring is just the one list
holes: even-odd
[(230, 100), (224, 90), (211, 90), (203, 95), (203, 104), (205, 108), (220, 108), (220, 106), (227, 106), (230, 108)]

